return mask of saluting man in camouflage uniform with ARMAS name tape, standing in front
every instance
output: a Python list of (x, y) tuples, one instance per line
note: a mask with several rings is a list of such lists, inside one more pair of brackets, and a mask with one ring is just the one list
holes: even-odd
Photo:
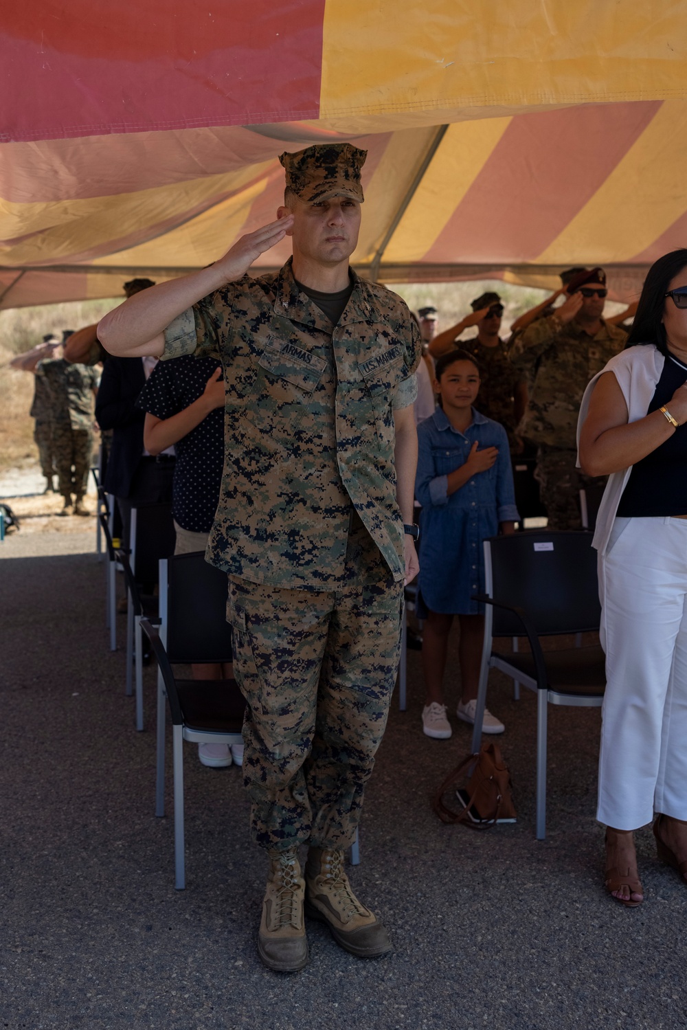
[[(350, 144), (282, 154), (277, 221), (99, 327), (112, 353), (222, 363), (225, 475), (208, 556), (229, 573), (245, 783), (270, 858), (259, 952), (283, 971), (307, 961), (304, 896), (352, 954), (390, 948), (343, 851), (386, 723), (404, 581), (417, 570), (420, 338), (399, 297), (349, 269), (365, 156)], [(284, 235), (293, 260), (247, 276)]]

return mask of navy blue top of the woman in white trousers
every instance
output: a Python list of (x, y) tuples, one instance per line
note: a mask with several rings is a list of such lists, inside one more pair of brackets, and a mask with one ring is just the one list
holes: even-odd
[[(668, 402), (686, 380), (687, 366), (668, 354), (647, 414), (663, 405), (671, 411)], [(616, 514), (687, 515), (687, 424), (679, 425), (656, 450), (632, 466)]]

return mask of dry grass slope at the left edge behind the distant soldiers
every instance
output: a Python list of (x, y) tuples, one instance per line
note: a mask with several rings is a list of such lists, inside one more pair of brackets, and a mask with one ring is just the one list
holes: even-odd
[(0, 311), (0, 472), (38, 462), (33, 441), (33, 375), (9, 368), (15, 354), (40, 343), (46, 333), (80, 329), (98, 321), (121, 299), (46, 304), (36, 308)]

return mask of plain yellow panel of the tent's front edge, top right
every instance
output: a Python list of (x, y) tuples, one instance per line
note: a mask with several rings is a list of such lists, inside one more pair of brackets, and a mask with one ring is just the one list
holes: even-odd
[(683, 0), (328, 0), (320, 119), (680, 98), (686, 60)]

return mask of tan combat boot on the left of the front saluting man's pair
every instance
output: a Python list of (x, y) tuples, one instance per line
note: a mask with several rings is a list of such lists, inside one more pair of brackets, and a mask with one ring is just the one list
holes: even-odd
[(305, 883), (295, 848), (270, 851), (257, 954), (268, 969), (297, 972), (308, 961), (303, 921)]

